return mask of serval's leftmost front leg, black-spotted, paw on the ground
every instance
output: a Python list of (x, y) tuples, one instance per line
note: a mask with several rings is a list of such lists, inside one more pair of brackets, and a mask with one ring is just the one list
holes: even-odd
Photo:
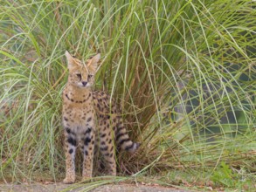
[(77, 149), (78, 141), (76, 135), (72, 132), (70, 128), (66, 127), (65, 131), (66, 141), (66, 178), (63, 180), (64, 183), (75, 182), (75, 152)]

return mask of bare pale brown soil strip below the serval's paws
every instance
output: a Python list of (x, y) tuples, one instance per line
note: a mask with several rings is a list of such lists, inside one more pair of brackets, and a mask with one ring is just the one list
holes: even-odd
[[(84, 188), (68, 189), (70, 185), (63, 183), (54, 184), (0, 184), (0, 191), (13, 191), (13, 192), (54, 192), (54, 191), (82, 191)], [(66, 189), (66, 190), (65, 190)], [(188, 192), (189, 190), (165, 188), (162, 186), (146, 186), (146, 185), (131, 185), (131, 184), (113, 184), (104, 185), (96, 189), (92, 189), (92, 192)]]

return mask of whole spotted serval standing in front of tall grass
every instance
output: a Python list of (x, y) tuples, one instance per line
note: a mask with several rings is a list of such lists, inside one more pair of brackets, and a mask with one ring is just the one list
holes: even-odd
[(93, 154), (100, 149), (109, 175), (116, 175), (115, 145), (134, 153), (138, 143), (131, 141), (123, 125), (119, 107), (107, 93), (93, 91), (100, 54), (83, 64), (66, 51), (69, 76), (63, 91), (62, 120), (65, 129), (66, 178), (75, 182), (75, 153), (83, 154), (83, 179), (92, 178)]

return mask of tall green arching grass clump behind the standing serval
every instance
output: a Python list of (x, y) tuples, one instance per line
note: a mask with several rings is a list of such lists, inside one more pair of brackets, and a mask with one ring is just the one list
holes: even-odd
[(207, 177), (221, 161), (255, 173), (255, 17), (249, 0), (2, 0), (2, 180), (64, 177), (66, 50), (101, 52), (95, 88), (142, 143), (118, 154), (119, 175)]

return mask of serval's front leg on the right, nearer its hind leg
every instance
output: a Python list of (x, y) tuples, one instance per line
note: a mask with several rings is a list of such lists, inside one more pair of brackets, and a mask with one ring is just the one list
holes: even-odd
[(84, 156), (83, 180), (90, 179), (93, 175), (94, 139), (94, 123), (86, 124), (86, 128), (81, 140), (81, 150)]

